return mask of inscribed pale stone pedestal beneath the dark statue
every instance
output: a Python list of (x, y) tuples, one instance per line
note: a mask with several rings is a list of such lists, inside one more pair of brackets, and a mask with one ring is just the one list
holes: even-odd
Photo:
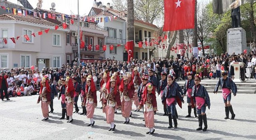
[(228, 54), (241, 54), (246, 47), (246, 32), (243, 28), (230, 28), (227, 31)]

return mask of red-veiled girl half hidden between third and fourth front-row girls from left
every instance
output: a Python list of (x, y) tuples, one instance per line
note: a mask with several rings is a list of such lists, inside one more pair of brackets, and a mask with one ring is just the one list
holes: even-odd
[[(108, 80), (110, 79), (110, 77), (109, 77), (109, 74), (107, 74), (107, 73), (104, 73), (103, 74), (103, 78), (102, 78), (102, 85), (100, 85), (100, 101), (102, 102), (102, 112), (104, 113), (104, 114), (106, 114), (106, 108), (105, 107), (103, 107), (103, 103), (105, 102), (105, 100), (106, 100), (106, 94), (108, 93), (108, 91), (107, 91), (107, 89), (105, 88), (106, 87), (106, 84), (107, 84), (107, 82), (108, 82)], [(104, 121), (106, 121), (107, 119), (106, 119), (106, 116), (105, 116), (105, 119), (104, 119)]]

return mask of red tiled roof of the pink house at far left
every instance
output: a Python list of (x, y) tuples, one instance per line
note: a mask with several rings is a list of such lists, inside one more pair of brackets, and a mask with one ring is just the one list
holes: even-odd
[[(43, 18), (34, 18), (34, 16), (19, 16), (14, 14), (3, 14), (0, 16), (0, 20), (16, 20), (16, 21), (23, 21), (23, 22), (29, 22), (34, 24), (41, 24), (46, 26), (56, 26), (56, 24), (61, 24), (58, 20), (53, 19), (43, 19)], [(62, 27), (59, 26), (59, 27)]]

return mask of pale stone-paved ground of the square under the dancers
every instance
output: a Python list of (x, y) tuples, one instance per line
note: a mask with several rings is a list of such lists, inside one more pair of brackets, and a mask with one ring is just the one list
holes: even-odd
[[(97, 93), (99, 95), (99, 92)], [(121, 111), (115, 115), (116, 131), (108, 131), (100, 104), (95, 109), (95, 126), (88, 127), (89, 119), (74, 114), (74, 122), (69, 124), (61, 117), (60, 100), (54, 99), (54, 113), (48, 121), (42, 120), (40, 104), (36, 104), (38, 95), (11, 98), (0, 101), (0, 140), (254, 140), (256, 139), (255, 94), (238, 94), (232, 96), (235, 120), (224, 120), (224, 103), (221, 94), (210, 93), (211, 108), (206, 110), (208, 131), (196, 131), (198, 120), (185, 118), (187, 103), (183, 109), (177, 107), (178, 129), (168, 129), (168, 117), (162, 116), (163, 107), (158, 101), (155, 115), (155, 134), (148, 135), (144, 127), (142, 112), (132, 112), (130, 124), (122, 124)], [(186, 100), (186, 97), (184, 97)], [(78, 102), (80, 104), (81, 100)], [(133, 105), (133, 109), (136, 107)], [(80, 108), (81, 112), (82, 108)], [(192, 113), (193, 114), (193, 113)], [(194, 116), (194, 115), (193, 115)]]

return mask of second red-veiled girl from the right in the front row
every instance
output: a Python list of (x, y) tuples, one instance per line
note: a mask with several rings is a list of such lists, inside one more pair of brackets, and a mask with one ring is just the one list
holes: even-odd
[(128, 84), (128, 78), (124, 76), (119, 86), (121, 102), (122, 102), (122, 116), (124, 117), (123, 124), (130, 123), (130, 113), (132, 111), (132, 100), (133, 92), (130, 90), (130, 85)]

